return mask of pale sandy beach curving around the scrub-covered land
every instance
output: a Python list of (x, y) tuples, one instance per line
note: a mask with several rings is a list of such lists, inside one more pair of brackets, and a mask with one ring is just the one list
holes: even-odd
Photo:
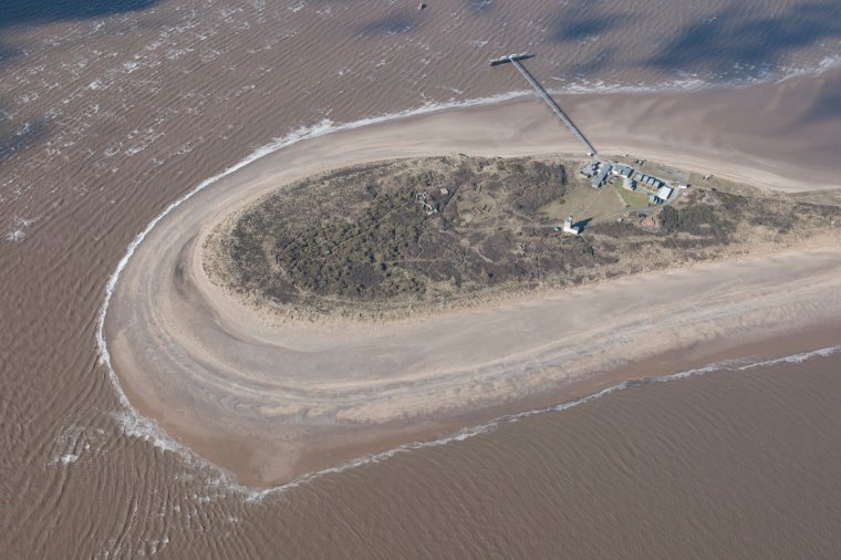
[[(728, 95), (738, 101), (738, 93)], [(593, 96), (573, 105), (596, 144), (610, 134), (612, 143), (602, 151), (634, 152), (766, 187), (832, 186), (827, 166), (760, 162), (719, 142), (715, 128), (704, 126), (715, 95), (671, 103)], [(712, 107), (706, 114), (681, 107), (705, 98)], [(668, 111), (660, 110), (664, 105)], [(658, 124), (647, 126), (662, 134), (635, 133), (645, 126), (634, 123), (648, 123), (655, 110)], [(467, 418), (523, 409), (539, 395), (561, 395), (582, 382), (598, 387), (599, 374), (623, 364), (700, 343), (721, 349), (728, 341), (778, 336), (837, 317), (841, 251), (831, 247), (367, 325), (274, 324), (212, 284), (201, 268), (203, 240), (216, 224), (315, 172), (454, 152), (574, 151), (574, 138), (546, 111), (526, 100), (314, 137), (173, 208), (136, 247), (105, 318), (112, 365), (129, 401), (241, 481), (266, 486), (454, 429)], [(616, 122), (624, 124), (608, 124)], [(697, 126), (691, 154), (667, 134), (678, 124)]]

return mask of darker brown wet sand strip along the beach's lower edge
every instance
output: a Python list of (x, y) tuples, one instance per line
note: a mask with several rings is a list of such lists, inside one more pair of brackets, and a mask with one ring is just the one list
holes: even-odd
[[(237, 474), (236, 455), (240, 449), (236, 446), (231, 447), (230, 442), (225, 444), (226, 453), (219, 455), (218, 440), (194, 438), (193, 434), (181, 433), (176, 425), (169, 425), (165, 421), (156, 422), (155, 425), (157, 429), (165, 432), (166, 437), (175, 440), (177, 445), (183, 445), (184, 452), (195, 454), (200, 460), (208, 462), (212, 468), (221, 469), (226, 476), (231, 477), (233, 487), (247, 494), (250, 501), (322, 476), (385, 460), (397, 453), (461, 442), (488, 434), (520, 418), (559, 413), (571, 406), (609, 396), (616, 391), (642, 388), (653, 383), (681, 381), (697, 375), (738, 374), (741, 367), (752, 369), (789, 359), (799, 362), (803, 356), (808, 360), (823, 355), (822, 351), (828, 349), (834, 354), (841, 351), (841, 345), (837, 344), (839, 340), (841, 340), (841, 322), (835, 322), (739, 345), (728, 345), (725, 340), (714, 341), (702, 348), (688, 349), (691, 353), (688, 359), (682, 350), (675, 349), (661, 356), (571, 382), (554, 392), (516, 403), (513, 407), (500, 404), (484, 411), (484, 414), (482, 412), (467, 413), (447, 423), (414, 426), (414, 428), (381, 427), (373, 438), (368, 436), (351, 444), (334, 444), (330, 450), (311, 454), (299, 465), (294, 477), (268, 481), (260, 478), (250, 479), (248, 476)], [(125, 393), (137, 412), (150, 417), (154, 408), (148, 407), (139, 394), (131, 390), (126, 390)], [(180, 443), (184, 440), (189, 440), (189, 446)]]

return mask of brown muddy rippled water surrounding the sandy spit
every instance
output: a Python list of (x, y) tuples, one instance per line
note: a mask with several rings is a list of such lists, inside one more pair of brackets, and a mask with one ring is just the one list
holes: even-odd
[(520, 92), (485, 63), (523, 50), (564, 92), (814, 75), (778, 108), (787, 131), (841, 116), (837, 1), (427, 3), (0, 6), (4, 557), (841, 554), (838, 354), (643, 384), (264, 495), (120, 403), (95, 338), (110, 274), (172, 200), (273, 138)]

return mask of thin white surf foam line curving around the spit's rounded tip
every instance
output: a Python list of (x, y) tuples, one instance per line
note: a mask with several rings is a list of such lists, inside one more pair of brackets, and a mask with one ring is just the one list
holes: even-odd
[[(390, 121), (396, 121), (401, 118), (407, 118), (412, 116), (423, 115), (427, 113), (433, 113), (437, 111), (444, 111), (448, 108), (461, 108), (461, 107), (471, 107), (471, 106), (480, 106), (480, 105), (490, 105), (495, 103), (500, 103), (508, 100), (513, 100), (518, 97), (522, 97), (526, 95), (531, 95), (531, 91), (516, 91), (516, 92), (508, 92), (499, 95), (494, 95), (489, 97), (479, 97), (468, 101), (460, 101), (460, 102), (448, 102), (448, 103), (429, 103), (426, 105), (423, 105), (420, 107), (403, 111), (398, 113), (392, 113), (392, 114), (385, 114), (385, 115), (377, 115), (372, 116), (367, 118), (362, 118), (359, 121), (353, 121), (350, 123), (343, 123), (343, 124), (336, 124), (333, 123), (330, 120), (324, 120), (313, 126), (301, 126), (299, 128), (295, 128), (291, 133), (289, 133), (287, 136), (283, 136), (281, 138), (278, 138), (264, 146), (261, 146), (257, 148), (255, 152), (252, 152), (248, 157), (242, 159), (241, 162), (228, 167), (227, 169), (222, 170), (221, 173), (214, 175), (212, 177), (201, 182), (196, 187), (194, 187), (191, 190), (189, 190), (187, 194), (181, 196), (180, 198), (176, 199), (175, 201), (170, 203), (159, 215), (157, 215), (152, 221), (149, 221), (144, 228), (143, 231), (141, 231), (128, 245), (128, 248), (126, 249), (125, 255), (123, 258), (117, 262), (116, 268), (112, 272), (111, 277), (108, 278), (108, 281), (105, 286), (105, 298), (103, 300), (102, 307), (100, 308), (98, 319), (97, 319), (97, 326), (96, 326), (96, 344), (100, 352), (100, 363), (104, 365), (108, 371), (108, 377), (112, 383), (112, 386), (114, 387), (114, 391), (116, 392), (120, 402), (123, 406), (123, 409), (115, 414), (115, 419), (117, 421), (118, 425), (121, 426), (123, 433), (129, 437), (137, 437), (142, 438), (146, 442), (149, 442), (153, 446), (164, 450), (164, 452), (172, 452), (180, 456), (187, 464), (193, 465), (200, 465), (208, 468), (214, 469), (215, 473), (218, 473), (218, 476), (214, 478), (214, 485), (222, 485), (228, 487), (229, 489), (237, 491), (238, 494), (242, 495), (247, 500), (255, 501), (260, 500), (263, 497), (279, 491), (284, 491), (294, 487), (298, 487), (302, 484), (305, 484), (308, 481), (311, 481), (313, 479), (331, 475), (331, 474), (338, 474), (342, 473), (344, 470), (355, 468), (362, 465), (367, 465), (371, 463), (376, 463), (380, 460), (387, 459), (390, 457), (393, 457), (394, 455), (398, 453), (405, 453), (413, 449), (420, 449), (420, 448), (428, 448), (428, 447), (437, 447), (446, 444), (450, 444), (453, 442), (463, 442), (465, 439), (468, 439), (470, 437), (475, 437), (479, 434), (485, 434), (490, 431), (496, 429), (497, 427), (511, 423), (517, 422), (521, 418), (536, 416), (539, 414), (547, 414), (552, 412), (561, 412), (567, 408), (571, 408), (573, 406), (578, 406), (580, 404), (588, 403), (590, 401), (601, 398), (603, 396), (606, 396), (611, 393), (614, 393), (616, 391), (621, 391), (631, 386), (636, 386), (638, 384), (644, 383), (651, 383), (651, 382), (666, 382), (666, 381), (674, 381), (692, 375), (702, 375), (705, 373), (709, 373), (713, 371), (720, 371), (726, 367), (726, 364), (712, 364), (706, 367), (702, 367), (698, 370), (691, 370), (687, 372), (679, 372), (672, 375), (665, 375), (662, 377), (655, 377), (651, 380), (637, 380), (637, 381), (631, 381), (631, 382), (623, 382), (619, 385), (608, 387), (603, 391), (600, 391), (598, 393), (593, 393), (591, 395), (584, 396), (582, 398), (575, 400), (575, 401), (569, 401), (565, 403), (558, 404), (556, 406), (551, 406), (548, 408), (539, 408), (533, 411), (527, 411), (518, 414), (507, 415), (499, 418), (496, 418), (487, 424), (482, 424), (479, 426), (473, 426), (468, 428), (460, 429), (454, 434), (449, 434), (443, 437), (439, 437), (437, 439), (427, 440), (427, 442), (412, 442), (406, 443), (403, 445), (399, 445), (393, 449), (374, 454), (374, 455), (366, 455), (363, 457), (359, 457), (352, 462), (349, 462), (346, 464), (340, 465), (338, 467), (328, 468), (323, 470), (319, 470), (315, 473), (305, 474), (295, 480), (292, 480), (288, 484), (262, 489), (262, 490), (256, 490), (255, 488), (247, 487), (243, 485), (238, 484), (232, 476), (230, 476), (229, 473), (227, 473), (221, 467), (212, 464), (211, 462), (198, 456), (195, 452), (193, 452), (189, 447), (180, 444), (179, 442), (176, 442), (158, 424), (146, 416), (143, 416), (139, 414), (139, 412), (134, 408), (128, 401), (125, 392), (123, 391), (120, 380), (116, 375), (116, 372), (114, 371), (114, 367), (111, 363), (111, 354), (108, 352), (107, 342), (105, 340), (105, 318), (108, 310), (108, 304), (111, 302), (111, 298), (114, 293), (114, 289), (116, 288), (117, 281), (120, 280), (120, 276), (122, 274), (125, 267), (128, 265), (128, 261), (131, 260), (132, 256), (134, 255), (134, 251), (137, 249), (137, 247), (143, 242), (143, 240), (148, 236), (148, 234), (157, 226), (157, 224), (163, 220), (170, 211), (173, 211), (175, 208), (184, 204), (185, 201), (189, 200), (193, 196), (195, 196), (197, 193), (204, 190), (205, 188), (214, 185), (215, 183), (219, 182), (220, 179), (238, 172), (239, 169), (246, 167), (247, 165), (260, 159), (263, 156), (267, 156), (269, 154), (272, 154), (274, 152), (278, 152), (284, 147), (288, 147), (292, 144), (295, 144), (298, 142), (301, 142), (303, 139), (309, 138), (315, 138), (319, 136), (323, 136), (325, 134), (334, 133), (334, 132), (341, 132), (341, 131), (350, 131), (354, 128), (360, 128), (362, 126), (367, 126), (372, 124), (378, 124), (378, 123), (385, 123)], [(823, 356), (832, 354), (837, 351), (841, 350), (841, 346), (833, 346), (830, 349), (821, 349), (817, 350), (814, 352), (809, 352), (804, 354), (797, 354), (796, 356), (788, 356), (782, 359), (777, 359), (776, 361), (771, 362), (758, 362), (756, 364), (748, 364), (743, 366), (741, 369), (747, 367), (755, 367), (759, 365), (765, 365), (769, 363), (777, 363), (780, 361), (786, 360), (808, 360), (809, 357), (813, 356)], [(803, 357), (804, 356), (804, 357)]]

